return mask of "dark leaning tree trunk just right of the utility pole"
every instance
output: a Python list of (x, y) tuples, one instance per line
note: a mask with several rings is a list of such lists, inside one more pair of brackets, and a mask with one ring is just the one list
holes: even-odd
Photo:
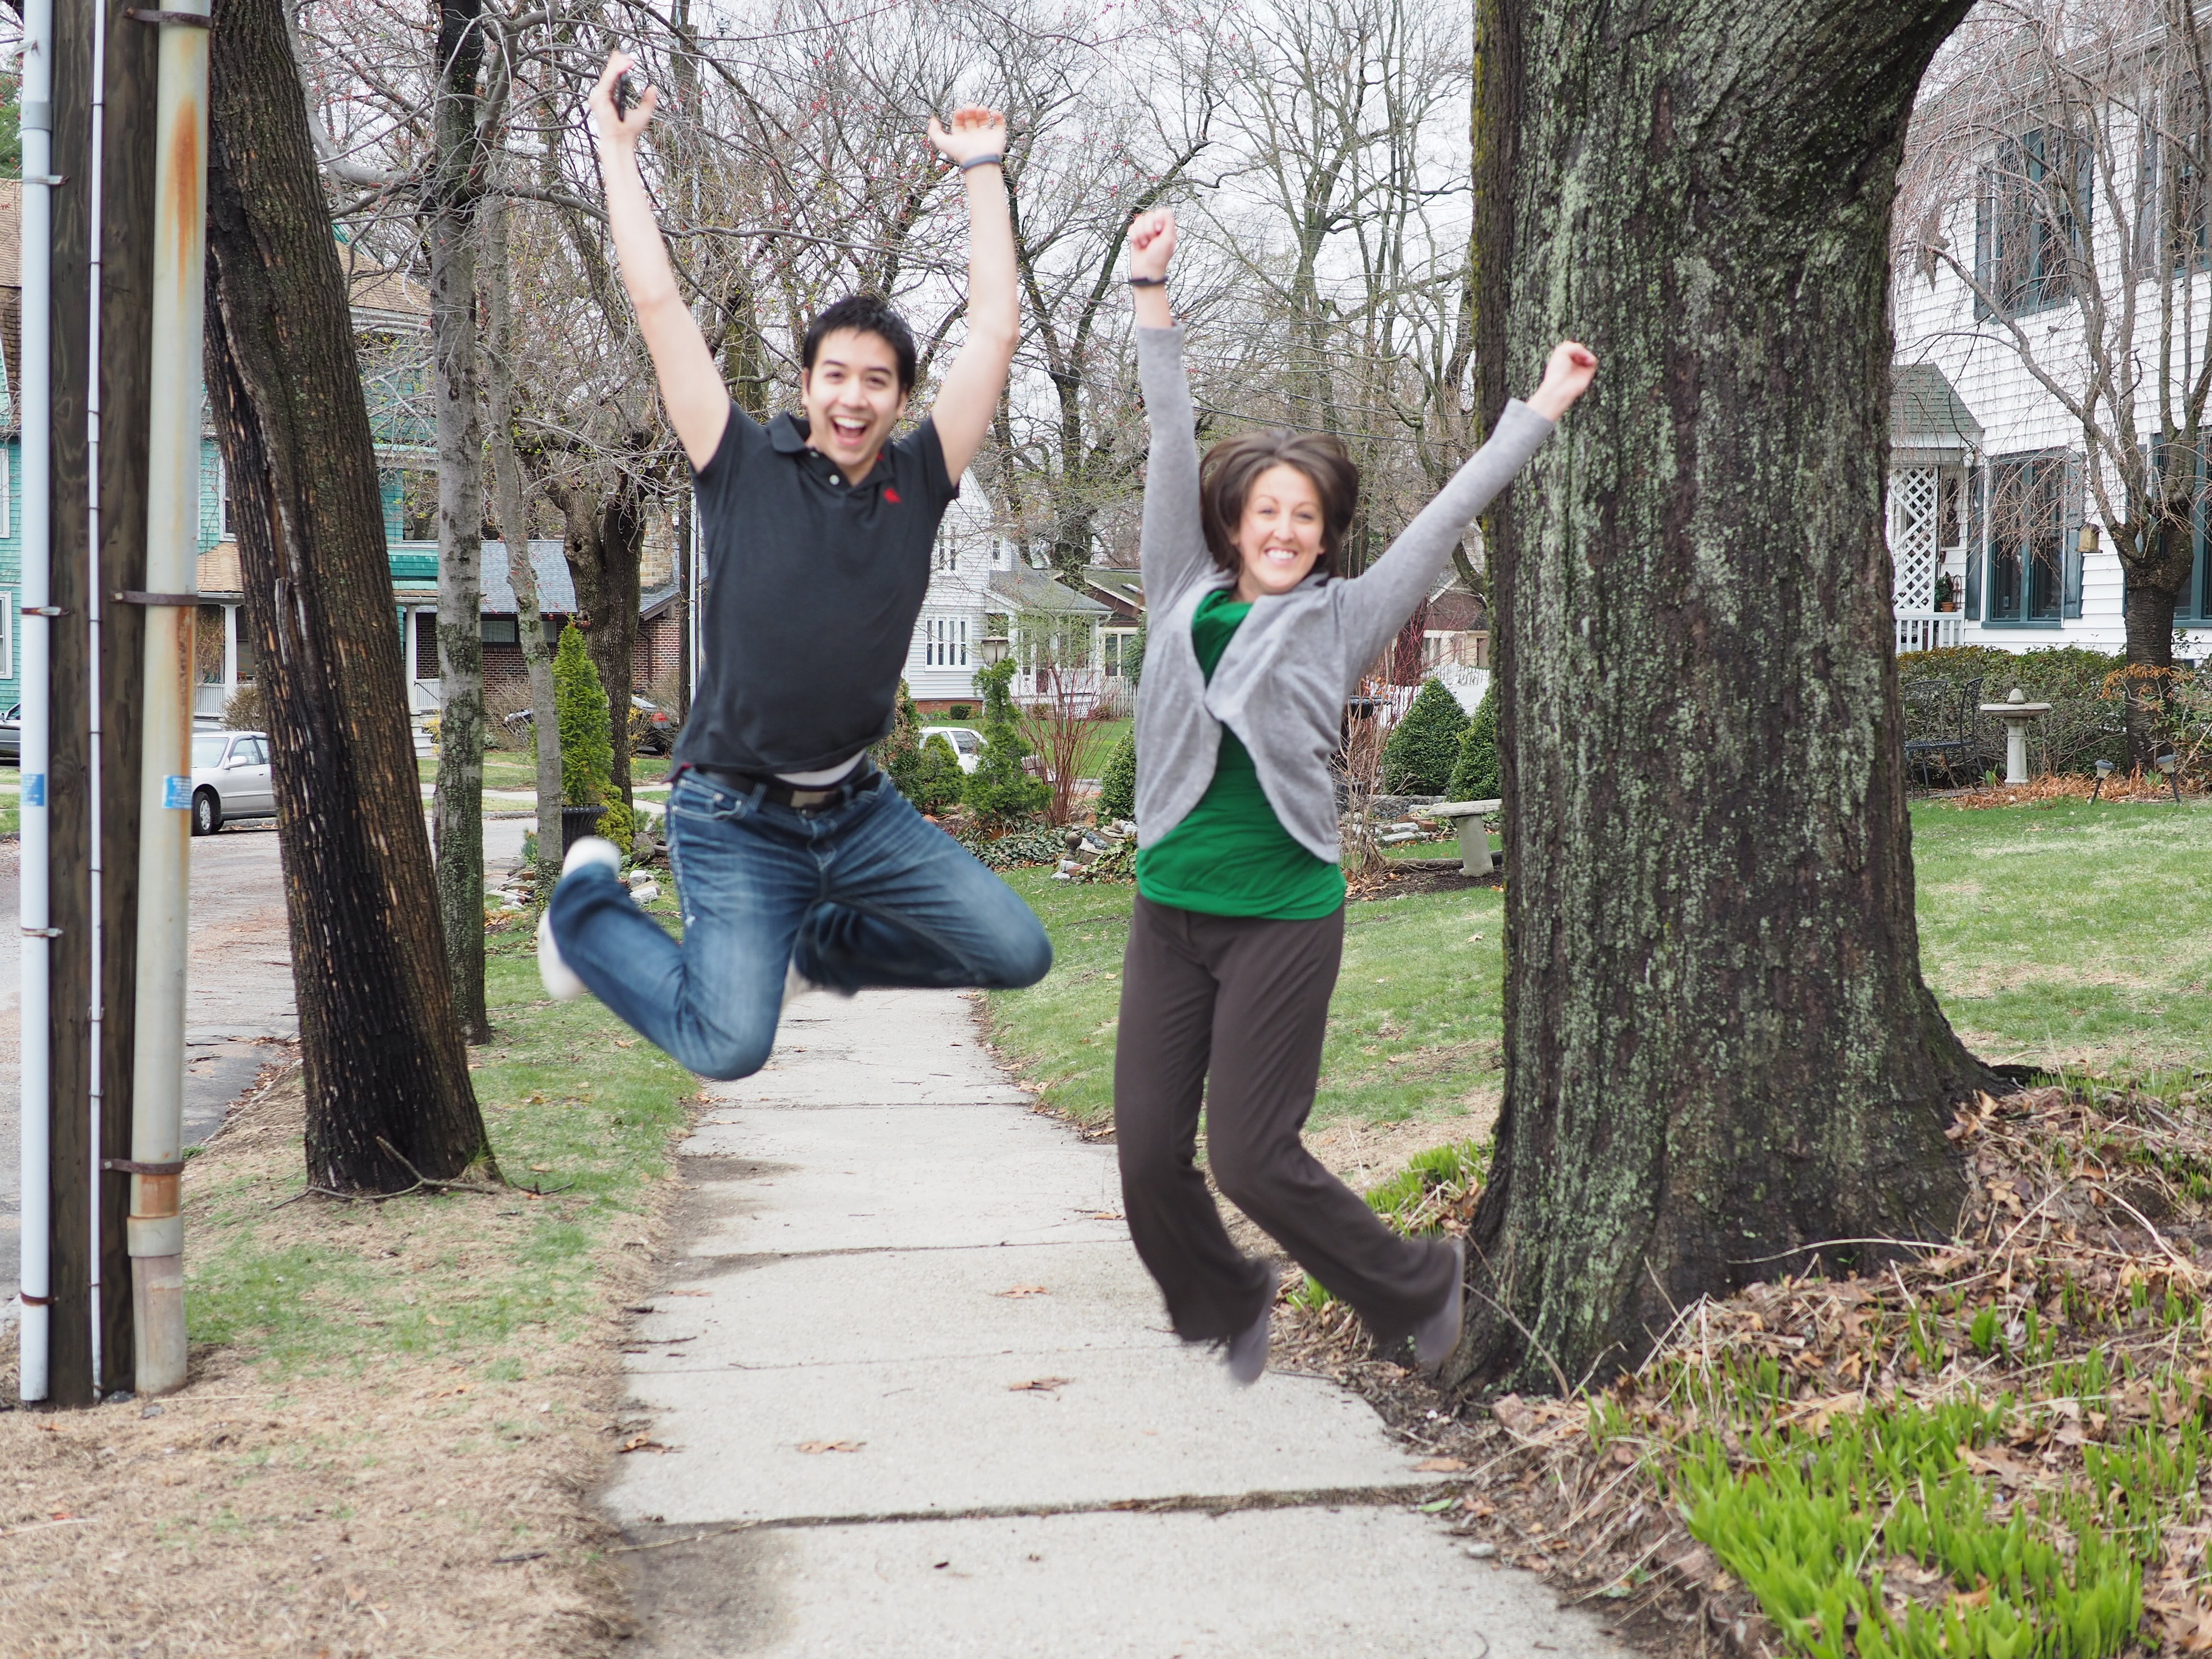
[(279, 0), (217, 0), (208, 398), (274, 739), (307, 1177), (491, 1159), (438, 936), (369, 414)]

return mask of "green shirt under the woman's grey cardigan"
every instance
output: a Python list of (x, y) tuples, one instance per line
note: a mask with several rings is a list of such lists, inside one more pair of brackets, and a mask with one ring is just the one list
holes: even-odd
[[(1250, 613), (1250, 604), (1230, 599), (1230, 588), (1199, 602), (1190, 644), (1208, 681)], [(1223, 726), (1214, 781), (1188, 818), (1137, 854), (1137, 891), (1155, 905), (1206, 916), (1310, 922), (1345, 902), (1345, 872), (1292, 841), (1267, 805), (1250, 750)]]

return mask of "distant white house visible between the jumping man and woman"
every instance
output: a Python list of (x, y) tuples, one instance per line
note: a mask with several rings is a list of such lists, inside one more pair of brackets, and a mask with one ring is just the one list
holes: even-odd
[(975, 703), (975, 670), (1011, 655), (1022, 664), (1013, 679), (1020, 701), (1037, 697), (1046, 661), (1088, 695), (1113, 697), (1121, 655), (1104, 650), (1108, 622), (1106, 604), (1031, 566), (1013, 540), (995, 533), (991, 502), (969, 473), (938, 526), (929, 593), (907, 646), (907, 690), (933, 714)]

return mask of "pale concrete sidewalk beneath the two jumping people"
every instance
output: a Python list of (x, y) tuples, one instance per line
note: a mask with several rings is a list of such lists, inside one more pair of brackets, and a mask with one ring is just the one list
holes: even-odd
[(1128, 1245), (1110, 1146), (949, 993), (807, 998), (710, 1086), (606, 1502), (655, 1655), (1615, 1655), (1473, 1562), (1354, 1396), (1232, 1389)]

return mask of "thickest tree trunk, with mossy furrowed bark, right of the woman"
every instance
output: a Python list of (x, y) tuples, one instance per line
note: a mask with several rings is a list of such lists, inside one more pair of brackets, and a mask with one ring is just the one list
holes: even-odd
[(1608, 1376), (1958, 1219), (1989, 1075), (1920, 980), (1880, 526), (1893, 179), (1964, 11), (1486, 18), (1491, 389), (1559, 336), (1601, 369), (1498, 513), (1506, 1088), (1455, 1385)]

